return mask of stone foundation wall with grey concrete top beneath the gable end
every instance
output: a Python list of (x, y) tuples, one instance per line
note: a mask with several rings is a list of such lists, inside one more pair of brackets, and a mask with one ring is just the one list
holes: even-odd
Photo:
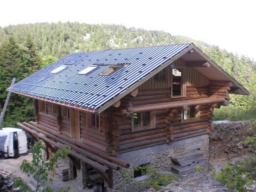
[(113, 188), (108, 189), (111, 192), (140, 192), (146, 190), (146, 187), (140, 186), (140, 179), (134, 180), (134, 166), (149, 163), (159, 171), (170, 171), (172, 161), (170, 156), (190, 150), (200, 149), (204, 153), (205, 169), (208, 169), (208, 134), (187, 138), (171, 142), (170, 144), (162, 144), (132, 152), (126, 152), (116, 156), (130, 163), (130, 168), (121, 168), (119, 171), (113, 170)]

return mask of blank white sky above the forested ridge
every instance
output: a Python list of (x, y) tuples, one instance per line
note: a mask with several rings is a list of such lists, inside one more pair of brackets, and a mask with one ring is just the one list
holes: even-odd
[(254, 0), (4, 0), (0, 26), (122, 24), (202, 40), (256, 60), (255, 8)]

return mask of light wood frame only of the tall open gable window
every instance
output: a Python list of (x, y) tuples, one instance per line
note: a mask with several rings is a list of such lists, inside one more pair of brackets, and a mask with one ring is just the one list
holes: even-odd
[[(173, 96), (172, 95), (172, 91), (173, 91), (173, 86), (172, 86), (172, 83), (173, 83), (173, 76), (172, 76), (172, 70), (173, 69), (181, 69), (182, 72), (181, 72), (181, 94), (180, 95), (177, 95), (177, 96)], [(181, 97), (186, 97), (186, 85), (187, 85), (187, 82), (186, 82), (186, 66), (176, 66), (174, 68), (171, 68), (171, 98), (181, 98)]]

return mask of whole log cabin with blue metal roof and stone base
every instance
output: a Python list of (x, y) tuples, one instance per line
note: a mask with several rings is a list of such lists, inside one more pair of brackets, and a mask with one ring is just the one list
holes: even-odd
[(207, 167), (214, 108), (249, 94), (192, 43), (72, 53), (8, 91), (34, 99), (35, 122), (18, 126), (52, 152), (70, 146), (63, 180), (113, 192), (124, 175), (140, 177), (135, 166)]

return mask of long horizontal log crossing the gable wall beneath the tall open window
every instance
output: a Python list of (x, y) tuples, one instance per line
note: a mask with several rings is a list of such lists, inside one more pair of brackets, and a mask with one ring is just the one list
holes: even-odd
[[(136, 113), (136, 112), (143, 112), (143, 111), (169, 109), (169, 108), (182, 108), (185, 105), (194, 106), (194, 105), (204, 105), (204, 104), (223, 103), (223, 102), (225, 102), (225, 98), (210, 97), (210, 98), (202, 98), (202, 99), (166, 102), (166, 103), (160, 103), (160, 104), (158, 103), (158, 104), (134, 106), (133, 110), (130, 112)], [(128, 110), (123, 112), (129, 113)]]

